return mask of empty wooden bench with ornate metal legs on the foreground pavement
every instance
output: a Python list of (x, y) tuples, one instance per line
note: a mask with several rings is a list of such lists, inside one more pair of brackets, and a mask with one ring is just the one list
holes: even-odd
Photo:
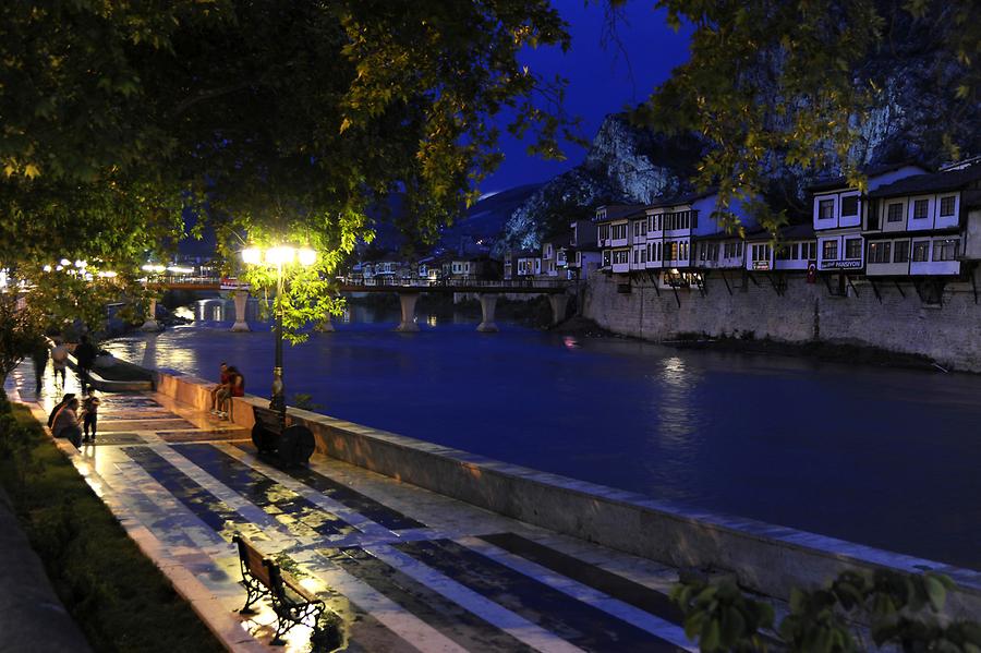
[(270, 642), (281, 646), (289, 630), (313, 616), (313, 628), (319, 628), (324, 602), (316, 594), (305, 590), (292, 576), (279, 568), (275, 560), (265, 557), (244, 536), (235, 534), (232, 542), (239, 545), (239, 565), (242, 568), (242, 583), (245, 585), (245, 607), (240, 614), (251, 615), (252, 605), (263, 596), (269, 596), (276, 613), (276, 634)]

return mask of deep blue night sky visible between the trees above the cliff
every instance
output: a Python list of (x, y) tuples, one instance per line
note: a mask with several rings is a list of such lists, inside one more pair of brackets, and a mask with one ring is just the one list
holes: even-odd
[[(675, 33), (668, 27), (665, 12), (655, 12), (652, 0), (634, 0), (625, 8), (627, 21), (618, 29), (623, 51), (613, 43), (601, 45), (605, 23), (602, 0), (553, 0), (553, 4), (569, 23), (572, 48), (566, 53), (559, 48), (530, 50), (522, 60), (546, 78), (559, 74), (569, 80), (566, 110), (582, 118), (581, 131), (588, 140), (607, 113), (642, 101), (671, 69), (688, 59), (689, 33)], [(566, 161), (546, 161), (529, 157), (526, 146), (505, 132), (500, 142), (505, 161), (481, 190), (486, 193), (545, 181), (585, 156), (583, 148), (569, 144)]]

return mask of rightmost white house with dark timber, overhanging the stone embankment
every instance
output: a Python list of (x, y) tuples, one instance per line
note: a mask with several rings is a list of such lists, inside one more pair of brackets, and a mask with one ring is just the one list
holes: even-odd
[(957, 277), (981, 258), (981, 164), (907, 177), (869, 199), (869, 277)]

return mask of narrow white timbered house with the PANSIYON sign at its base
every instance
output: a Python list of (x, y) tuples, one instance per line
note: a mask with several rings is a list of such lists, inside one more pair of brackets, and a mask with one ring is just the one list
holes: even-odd
[[(911, 164), (877, 166), (863, 171), (868, 192), (927, 170)], [(865, 265), (862, 227), (869, 210), (868, 197), (844, 177), (812, 185), (814, 233), (818, 239), (818, 270), (861, 274)]]

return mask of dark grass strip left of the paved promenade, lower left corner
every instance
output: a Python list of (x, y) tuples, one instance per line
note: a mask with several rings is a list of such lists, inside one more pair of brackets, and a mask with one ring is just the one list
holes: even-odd
[(223, 651), (31, 411), (3, 399), (0, 483), (58, 595), (93, 649)]

